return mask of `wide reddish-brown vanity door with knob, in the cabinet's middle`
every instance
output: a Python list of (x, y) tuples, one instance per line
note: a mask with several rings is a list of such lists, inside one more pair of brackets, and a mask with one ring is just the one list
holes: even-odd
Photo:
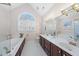
[(61, 49), (54, 44), (51, 44), (51, 56), (61, 56)]

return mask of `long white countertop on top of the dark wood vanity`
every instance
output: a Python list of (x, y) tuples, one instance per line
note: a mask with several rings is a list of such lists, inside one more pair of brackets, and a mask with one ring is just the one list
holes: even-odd
[(65, 39), (63, 37), (53, 37), (53, 36), (47, 36), (42, 34), (40, 35), (44, 37), (46, 40), (48, 40), (49, 42), (61, 48), (62, 50), (71, 54), (72, 56), (79, 56), (79, 52), (78, 52), (79, 47), (69, 44), (68, 41), (66, 40), (67, 38)]

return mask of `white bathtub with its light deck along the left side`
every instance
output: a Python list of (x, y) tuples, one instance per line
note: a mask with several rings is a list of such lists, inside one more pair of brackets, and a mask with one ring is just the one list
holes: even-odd
[[(1, 56), (15, 56), (18, 55), (18, 50), (21, 45), (23, 45), (24, 37), (13, 38), (10, 40), (5, 40), (0, 43), (0, 55)], [(23, 47), (21, 47), (23, 48)], [(20, 52), (21, 53), (21, 52)], [(19, 54), (20, 55), (20, 54)]]

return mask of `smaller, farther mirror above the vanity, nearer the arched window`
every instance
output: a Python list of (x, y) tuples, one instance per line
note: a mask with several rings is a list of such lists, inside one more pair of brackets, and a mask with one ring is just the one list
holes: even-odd
[(46, 34), (53, 34), (56, 32), (56, 20), (49, 19), (45, 22), (45, 32)]

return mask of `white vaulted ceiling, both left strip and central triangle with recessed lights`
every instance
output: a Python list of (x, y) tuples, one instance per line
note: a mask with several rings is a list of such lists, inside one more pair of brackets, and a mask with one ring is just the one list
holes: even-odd
[[(17, 8), (25, 3), (8, 3), (0, 4), (1, 6), (5, 7), (5, 9), (13, 9)], [(54, 6), (54, 3), (29, 3), (29, 5), (34, 9), (40, 16), (45, 15), (51, 8)]]

